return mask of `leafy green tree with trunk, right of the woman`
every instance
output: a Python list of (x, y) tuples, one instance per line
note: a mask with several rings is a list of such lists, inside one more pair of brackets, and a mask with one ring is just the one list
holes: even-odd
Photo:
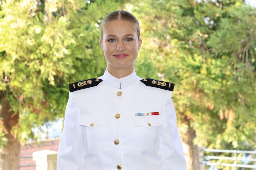
[(133, 12), (158, 79), (176, 83), (188, 169), (199, 169), (198, 146), (255, 149), (256, 9), (239, 0), (146, 0)]

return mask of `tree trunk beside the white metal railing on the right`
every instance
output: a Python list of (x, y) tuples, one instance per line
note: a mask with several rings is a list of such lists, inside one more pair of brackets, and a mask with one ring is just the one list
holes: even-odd
[(197, 145), (193, 144), (196, 134), (195, 130), (190, 126), (190, 121), (189, 119), (185, 120), (184, 123), (188, 125), (188, 129), (181, 130), (181, 139), (187, 160), (187, 170), (200, 170), (199, 149)]

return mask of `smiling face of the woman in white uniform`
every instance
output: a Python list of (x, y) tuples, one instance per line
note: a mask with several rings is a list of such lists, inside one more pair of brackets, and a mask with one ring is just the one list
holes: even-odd
[(99, 43), (111, 74), (121, 70), (132, 73), (142, 43), (132, 23), (122, 20), (109, 22)]

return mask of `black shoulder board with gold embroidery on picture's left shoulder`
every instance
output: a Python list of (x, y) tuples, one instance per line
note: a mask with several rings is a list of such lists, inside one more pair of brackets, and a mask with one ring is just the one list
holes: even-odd
[(88, 79), (80, 82), (71, 83), (68, 85), (69, 91), (73, 92), (73, 91), (81, 90), (84, 88), (94, 87), (94, 86), (97, 86), (100, 82), (102, 82), (101, 79)]

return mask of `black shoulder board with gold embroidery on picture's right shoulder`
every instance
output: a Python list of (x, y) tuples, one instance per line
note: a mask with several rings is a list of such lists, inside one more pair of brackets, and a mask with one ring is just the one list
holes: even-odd
[(151, 87), (162, 88), (169, 91), (173, 91), (174, 89), (174, 84), (169, 82), (163, 82), (163, 81), (154, 80), (154, 79), (142, 79), (140, 81), (145, 85), (151, 86)]

